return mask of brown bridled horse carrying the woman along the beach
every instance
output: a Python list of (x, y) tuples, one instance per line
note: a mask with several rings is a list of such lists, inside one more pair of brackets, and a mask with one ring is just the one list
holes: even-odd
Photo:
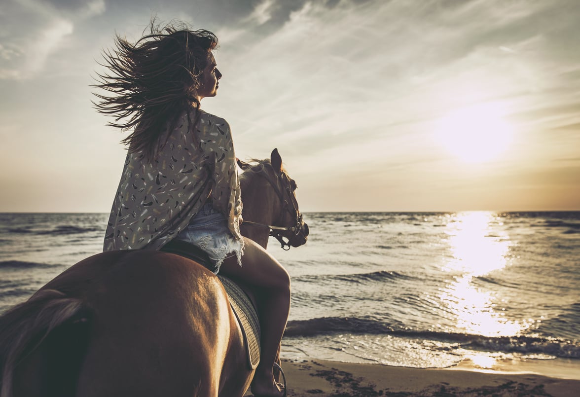
[[(270, 227), (286, 246), (308, 234), (281, 164), (242, 163), (245, 231), (264, 247)], [(235, 397), (253, 376), (218, 277), (154, 250), (86, 258), (6, 312), (0, 370), (1, 397)]]

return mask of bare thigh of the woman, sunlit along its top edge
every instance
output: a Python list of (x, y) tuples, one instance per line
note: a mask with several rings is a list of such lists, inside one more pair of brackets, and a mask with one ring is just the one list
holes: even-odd
[(235, 256), (228, 257), (220, 273), (257, 287), (289, 288), (290, 276), (276, 258), (251, 239), (244, 238), (244, 242), (242, 265), (238, 265)]

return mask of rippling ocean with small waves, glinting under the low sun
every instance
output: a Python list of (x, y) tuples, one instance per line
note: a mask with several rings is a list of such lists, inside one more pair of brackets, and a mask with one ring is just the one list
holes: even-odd
[[(580, 377), (580, 212), (305, 213), (289, 359)], [(0, 214), (0, 312), (98, 253), (108, 214)]]

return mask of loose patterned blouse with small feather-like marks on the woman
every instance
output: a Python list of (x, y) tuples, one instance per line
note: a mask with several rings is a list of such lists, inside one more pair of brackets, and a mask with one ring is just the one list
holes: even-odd
[[(194, 120), (193, 108), (189, 112)], [(194, 131), (184, 111), (153, 161), (142, 151), (127, 154), (103, 251), (158, 250), (208, 199), (226, 216), (231, 234), (241, 239), (240, 180), (230, 126), (200, 111)]]

